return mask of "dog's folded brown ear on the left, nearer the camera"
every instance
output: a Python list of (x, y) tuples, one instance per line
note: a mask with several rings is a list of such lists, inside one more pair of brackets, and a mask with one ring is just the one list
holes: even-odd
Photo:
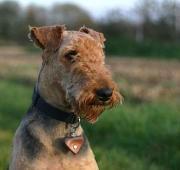
[(30, 27), (29, 38), (40, 48), (57, 50), (62, 40), (64, 25)]

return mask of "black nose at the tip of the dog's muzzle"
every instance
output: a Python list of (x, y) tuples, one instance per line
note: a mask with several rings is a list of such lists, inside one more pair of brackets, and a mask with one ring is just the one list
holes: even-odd
[(96, 95), (101, 101), (108, 101), (112, 96), (112, 89), (110, 88), (101, 88), (96, 91)]

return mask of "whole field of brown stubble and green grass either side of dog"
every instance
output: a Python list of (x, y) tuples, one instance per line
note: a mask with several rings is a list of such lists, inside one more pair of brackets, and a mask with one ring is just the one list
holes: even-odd
[[(31, 103), (40, 57), (0, 48), (0, 170)], [(107, 59), (125, 96), (95, 125), (83, 126), (101, 170), (180, 169), (180, 61)]]

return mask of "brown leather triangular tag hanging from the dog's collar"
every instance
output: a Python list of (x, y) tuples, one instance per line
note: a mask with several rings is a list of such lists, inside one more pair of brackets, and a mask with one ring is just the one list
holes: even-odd
[(66, 137), (65, 144), (71, 152), (77, 154), (84, 143), (83, 136)]

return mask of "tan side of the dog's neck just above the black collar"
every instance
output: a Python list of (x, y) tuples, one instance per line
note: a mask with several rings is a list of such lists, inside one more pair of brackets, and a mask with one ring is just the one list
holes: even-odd
[(64, 111), (73, 112), (71, 106), (66, 101), (66, 94), (59, 81), (53, 77), (51, 68), (42, 66), (37, 81), (39, 94), (50, 105)]

